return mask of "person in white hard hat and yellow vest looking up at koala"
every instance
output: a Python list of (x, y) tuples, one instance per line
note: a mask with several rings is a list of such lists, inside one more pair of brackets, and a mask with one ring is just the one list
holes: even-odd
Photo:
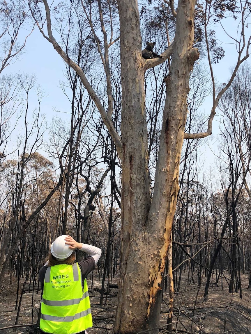
[[(75, 263), (74, 249), (89, 256)], [(49, 261), (39, 270), (41, 283), (41, 333), (85, 334), (92, 327), (86, 276), (95, 268), (101, 249), (59, 236), (51, 245)]]

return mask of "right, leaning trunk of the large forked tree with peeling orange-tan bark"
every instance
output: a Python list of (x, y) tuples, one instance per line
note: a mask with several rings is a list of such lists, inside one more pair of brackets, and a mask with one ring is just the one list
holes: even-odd
[(179, 163), (187, 115), (187, 94), (193, 63), (198, 59), (192, 47), (194, 37), (195, 1), (180, 0), (177, 9), (176, 31), (170, 73), (165, 78), (166, 102), (160, 138), (158, 163), (151, 209), (148, 217), (149, 251), (153, 254), (150, 270), (150, 300), (147, 311), (150, 328), (159, 326), (161, 281), (170, 245), (173, 216), (179, 190)]

